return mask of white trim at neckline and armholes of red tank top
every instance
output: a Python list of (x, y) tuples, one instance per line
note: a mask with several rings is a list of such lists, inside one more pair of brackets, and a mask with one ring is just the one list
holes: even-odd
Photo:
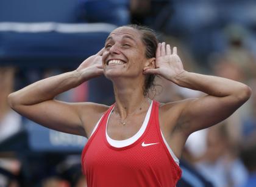
[[(137, 134), (133, 135), (135, 141), (137, 141), (138, 138), (141, 137), (141, 135), (143, 134), (143, 132), (145, 131), (145, 129), (146, 129), (147, 125), (148, 125), (148, 121), (149, 121), (149, 117), (150, 117), (151, 109), (152, 109), (152, 103), (153, 103), (153, 101), (151, 101), (151, 105), (150, 105), (150, 107), (149, 107), (149, 109), (148, 109), (148, 112), (147, 112), (146, 117), (145, 117), (145, 119), (144, 119), (144, 121), (143, 121), (143, 124), (142, 124), (142, 126), (140, 127), (140, 130), (137, 132), (137, 134), (139, 135), (139, 137), (135, 137), (135, 135), (137, 135)], [(114, 107), (113, 107), (113, 108), (114, 108)], [(112, 111), (113, 111), (113, 109), (110, 111), (110, 114), (111, 114)], [(103, 116), (104, 116), (104, 115), (102, 115), (102, 117), (103, 117)], [(101, 121), (102, 117), (99, 119), (99, 121), (98, 121), (98, 123), (96, 124), (96, 126), (94, 126), (93, 132), (91, 132), (90, 137), (91, 137), (91, 136), (93, 135), (93, 133), (96, 131), (96, 129), (97, 129), (97, 127), (98, 127), (98, 125), (99, 125), (99, 122)], [(108, 123), (109, 117), (110, 117), (110, 115), (108, 115), (107, 123)], [(107, 125), (107, 124), (106, 124), (106, 125)], [(179, 166), (179, 163), (180, 163), (180, 162), (179, 162), (179, 158), (176, 157), (176, 155), (174, 154), (174, 152), (173, 152), (173, 151), (171, 150), (171, 148), (169, 147), (169, 144), (168, 144), (167, 141), (165, 140), (165, 137), (163, 136), (162, 131), (161, 131), (161, 135), (162, 135), (163, 142), (165, 143), (166, 148), (168, 149), (169, 153), (171, 154), (171, 157), (173, 158), (173, 160), (174, 160), (174, 161), (177, 163), (177, 165)], [(90, 137), (89, 137), (89, 138), (90, 138)], [(127, 145), (132, 144), (132, 143), (135, 142), (134, 140), (129, 140), (130, 138), (133, 139), (133, 137), (130, 137), (130, 138), (126, 139), (126, 140), (113, 140), (113, 139), (110, 138), (110, 137), (108, 136), (108, 134), (107, 134), (107, 126), (106, 126), (106, 137), (107, 137), (108, 143), (111, 144), (113, 147), (116, 147), (116, 148), (122, 148), (122, 147), (124, 147), (124, 146), (127, 146)], [(89, 139), (89, 138), (88, 138), (88, 139)], [(128, 140), (128, 141), (127, 141), (127, 140)], [(126, 142), (126, 141), (127, 141), (127, 145), (126, 145), (126, 144), (124, 145), (123, 143)], [(116, 145), (116, 142), (118, 142), (117, 144), (118, 144), (119, 146)], [(119, 142), (120, 142), (120, 143), (119, 143)]]

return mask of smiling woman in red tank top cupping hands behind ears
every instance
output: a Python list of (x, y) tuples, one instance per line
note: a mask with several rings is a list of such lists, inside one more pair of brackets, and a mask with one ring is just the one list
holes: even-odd
[[(113, 82), (112, 106), (54, 100), (102, 73)], [(207, 95), (151, 101), (147, 92), (155, 75)], [(88, 186), (175, 186), (188, 136), (229, 117), (250, 95), (242, 83), (187, 72), (176, 47), (157, 44), (150, 29), (127, 25), (113, 30), (104, 49), (73, 72), (18, 90), (9, 103), (43, 126), (89, 138), (82, 153)]]

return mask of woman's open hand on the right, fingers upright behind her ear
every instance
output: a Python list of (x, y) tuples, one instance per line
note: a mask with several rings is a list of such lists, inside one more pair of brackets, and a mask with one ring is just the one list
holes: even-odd
[(143, 69), (144, 74), (160, 75), (169, 81), (173, 81), (182, 72), (185, 70), (180, 57), (177, 55), (177, 47), (173, 47), (171, 53), (170, 45), (165, 45), (165, 42), (159, 43), (157, 46), (155, 68), (145, 67)]

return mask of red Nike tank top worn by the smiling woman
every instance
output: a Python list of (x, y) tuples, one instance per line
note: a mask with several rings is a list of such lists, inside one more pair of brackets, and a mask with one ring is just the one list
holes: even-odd
[(162, 137), (158, 107), (153, 101), (143, 134), (122, 148), (111, 145), (106, 135), (113, 106), (105, 112), (82, 152), (88, 187), (176, 186), (181, 170)]

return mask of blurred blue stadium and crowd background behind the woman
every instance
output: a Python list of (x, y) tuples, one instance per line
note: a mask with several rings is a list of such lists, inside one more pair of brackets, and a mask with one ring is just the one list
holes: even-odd
[[(120, 25), (148, 25), (178, 47), (185, 69), (248, 84), (252, 97), (221, 124), (188, 138), (177, 186), (256, 186), (256, 1), (1, 0), (0, 186), (85, 186), (87, 140), (52, 131), (7, 104), (10, 92), (76, 69)], [(202, 97), (157, 78), (155, 100)], [(95, 78), (59, 100), (114, 102), (112, 83)]]

